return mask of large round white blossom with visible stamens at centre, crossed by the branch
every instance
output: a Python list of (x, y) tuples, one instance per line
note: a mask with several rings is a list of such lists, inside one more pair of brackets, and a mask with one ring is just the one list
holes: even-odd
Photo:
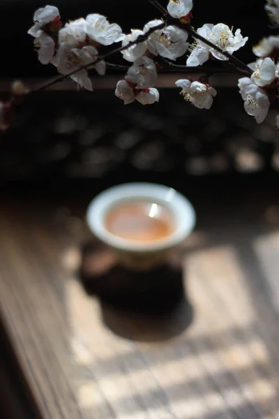
[[(144, 34), (149, 29), (162, 23), (162, 20), (151, 20), (144, 26)], [(188, 33), (174, 26), (158, 29), (153, 32), (146, 41), (146, 46), (154, 55), (160, 55), (168, 59), (175, 60), (188, 50), (189, 44), (186, 42)]]

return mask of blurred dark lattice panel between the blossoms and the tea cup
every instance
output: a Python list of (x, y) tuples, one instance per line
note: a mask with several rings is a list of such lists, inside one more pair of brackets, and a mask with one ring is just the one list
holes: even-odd
[(110, 90), (31, 96), (0, 137), (1, 178), (278, 172), (276, 111), (256, 124), (232, 88), (219, 89), (209, 111), (183, 101), (178, 89), (160, 94), (145, 107), (124, 106)]

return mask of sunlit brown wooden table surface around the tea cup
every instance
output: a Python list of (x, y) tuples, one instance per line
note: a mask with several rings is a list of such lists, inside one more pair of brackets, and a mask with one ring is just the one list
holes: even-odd
[(187, 328), (183, 304), (127, 316), (84, 291), (88, 199), (2, 198), (1, 316), (41, 418), (279, 418), (279, 198), (213, 201), (183, 248)]

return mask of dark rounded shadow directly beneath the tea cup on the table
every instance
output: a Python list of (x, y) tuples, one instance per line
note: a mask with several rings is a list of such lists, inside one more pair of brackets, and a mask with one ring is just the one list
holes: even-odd
[(119, 265), (102, 245), (85, 244), (80, 279), (100, 299), (105, 325), (121, 337), (161, 341), (180, 335), (193, 320), (181, 265), (165, 263), (148, 272)]

